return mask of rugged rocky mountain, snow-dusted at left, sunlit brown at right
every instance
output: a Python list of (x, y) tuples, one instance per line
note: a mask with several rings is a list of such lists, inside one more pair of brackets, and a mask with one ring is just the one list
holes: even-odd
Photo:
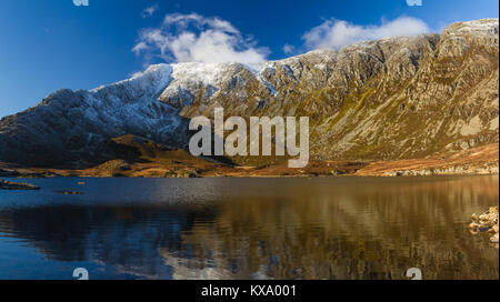
[(0, 161), (86, 164), (134, 134), (186, 147), (187, 122), (229, 115), (310, 117), (317, 160), (423, 158), (499, 141), (499, 21), (442, 34), (316, 50), (260, 70), (160, 64), (91, 91), (61, 90), (0, 121)]

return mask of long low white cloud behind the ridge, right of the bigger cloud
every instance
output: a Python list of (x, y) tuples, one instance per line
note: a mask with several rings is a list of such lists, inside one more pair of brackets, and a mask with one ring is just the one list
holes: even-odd
[(422, 20), (404, 16), (389, 22), (382, 21), (380, 26), (358, 26), (331, 19), (306, 32), (302, 39), (308, 49), (339, 49), (358, 41), (414, 36), (429, 31)]

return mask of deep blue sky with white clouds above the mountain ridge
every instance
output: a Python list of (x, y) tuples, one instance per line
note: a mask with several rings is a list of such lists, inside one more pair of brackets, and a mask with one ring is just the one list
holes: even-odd
[[(211, 60), (210, 51), (226, 56), (217, 59), (249, 63), (282, 59), (360, 37), (377, 38), (388, 30), (406, 33), (406, 27), (440, 31), (454, 21), (498, 18), (499, 11), (496, 0), (422, 2), (410, 7), (404, 0), (89, 0), (88, 7), (77, 7), (73, 0), (3, 0), (0, 117), (34, 105), (60, 88), (96, 88), (149, 63)], [(152, 8), (150, 13), (147, 8)], [(333, 34), (342, 26), (353, 36)]]

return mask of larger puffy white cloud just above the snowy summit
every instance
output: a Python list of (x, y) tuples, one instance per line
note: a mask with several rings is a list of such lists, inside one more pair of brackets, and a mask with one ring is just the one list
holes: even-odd
[(230, 22), (197, 13), (167, 14), (160, 28), (142, 30), (132, 49), (146, 58), (167, 62), (239, 62), (254, 66), (266, 60), (267, 48), (256, 47)]

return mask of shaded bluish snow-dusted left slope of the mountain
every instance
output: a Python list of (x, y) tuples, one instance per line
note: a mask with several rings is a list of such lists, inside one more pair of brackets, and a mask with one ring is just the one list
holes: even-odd
[(183, 147), (187, 122), (177, 109), (158, 101), (171, 71), (168, 64), (152, 66), (129, 80), (90, 91), (59, 90), (39, 105), (2, 119), (0, 159), (84, 165), (111, 158), (110, 139), (124, 134)]

